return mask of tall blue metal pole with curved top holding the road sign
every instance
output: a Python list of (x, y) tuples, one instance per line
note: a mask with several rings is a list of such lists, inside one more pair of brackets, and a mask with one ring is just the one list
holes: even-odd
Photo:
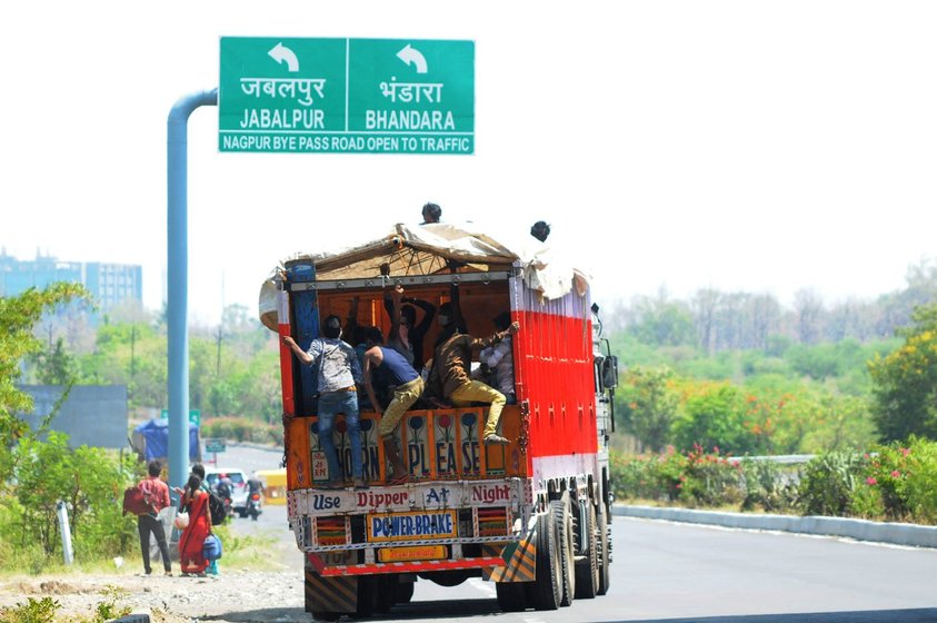
[(218, 89), (180, 98), (167, 123), (167, 257), (169, 264), (169, 484), (181, 487), (189, 474), (189, 233), (188, 122), (200, 106), (218, 106)]

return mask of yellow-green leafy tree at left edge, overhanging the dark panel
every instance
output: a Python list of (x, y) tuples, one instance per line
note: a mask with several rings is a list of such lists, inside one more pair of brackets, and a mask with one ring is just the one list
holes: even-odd
[(19, 413), (33, 408), (32, 396), (17, 387), (20, 363), (42, 349), (33, 336), (36, 324), (47, 312), (74, 299), (89, 299), (90, 295), (79, 284), (57, 283), (43, 290), (30, 288), (21, 295), (0, 297), (0, 486), (8, 482), (12, 468), (7, 444), (29, 432)]

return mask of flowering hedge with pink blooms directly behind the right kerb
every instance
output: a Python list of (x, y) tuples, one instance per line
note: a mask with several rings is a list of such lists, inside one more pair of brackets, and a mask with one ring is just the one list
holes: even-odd
[(716, 447), (687, 453), (611, 453), (616, 497), (684, 506), (937, 525), (937, 442), (910, 437), (865, 455), (828, 452), (806, 465), (742, 459), (734, 465)]

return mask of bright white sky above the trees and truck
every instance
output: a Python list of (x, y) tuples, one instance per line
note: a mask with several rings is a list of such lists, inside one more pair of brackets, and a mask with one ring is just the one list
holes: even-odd
[(935, 257), (937, 3), (7, 2), (0, 247), (143, 267), (165, 300), (167, 119), (221, 37), (471, 40), (471, 156), (218, 150), (189, 119), (189, 319), (296, 251), (418, 222), (526, 231), (594, 299), (900, 289)]

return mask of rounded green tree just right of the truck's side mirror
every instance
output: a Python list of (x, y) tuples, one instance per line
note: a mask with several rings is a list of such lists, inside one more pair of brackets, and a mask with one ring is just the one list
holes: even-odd
[(648, 449), (660, 451), (670, 438), (679, 395), (670, 386), (674, 373), (662, 368), (630, 368), (625, 375), (625, 421)]

